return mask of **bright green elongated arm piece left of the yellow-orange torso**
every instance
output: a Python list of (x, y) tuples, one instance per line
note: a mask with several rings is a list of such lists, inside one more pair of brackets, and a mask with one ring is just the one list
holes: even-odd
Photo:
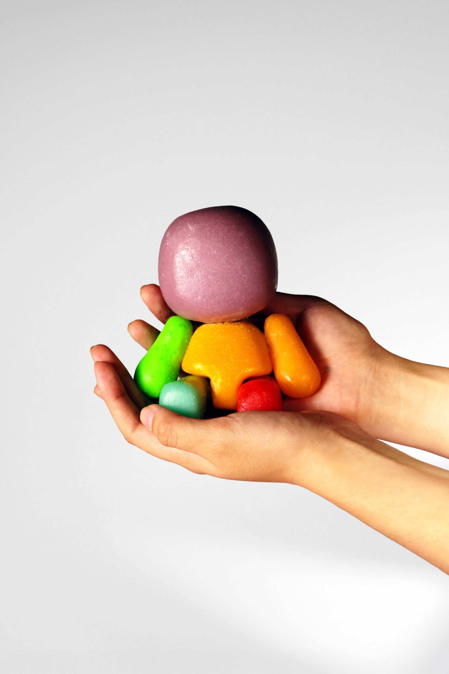
[(178, 379), (181, 361), (192, 336), (191, 321), (172, 316), (136, 367), (134, 381), (149, 398), (159, 398), (169, 381)]

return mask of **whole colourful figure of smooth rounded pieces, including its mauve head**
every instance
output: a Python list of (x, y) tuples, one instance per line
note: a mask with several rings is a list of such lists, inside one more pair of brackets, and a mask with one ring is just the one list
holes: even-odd
[[(137, 365), (135, 382), (149, 398), (201, 419), (210, 396), (217, 409), (281, 410), (281, 392), (318, 390), (318, 368), (287, 316), (269, 315), (264, 332), (242, 320), (277, 288), (273, 239), (253, 213), (219, 206), (176, 218), (162, 239), (159, 280), (180, 315)], [(203, 325), (194, 332), (191, 321)], [(181, 367), (188, 376), (178, 379)]]

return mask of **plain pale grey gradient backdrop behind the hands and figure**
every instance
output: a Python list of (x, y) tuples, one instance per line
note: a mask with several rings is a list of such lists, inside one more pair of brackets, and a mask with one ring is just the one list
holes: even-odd
[(1, 671), (447, 672), (442, 572), (127, 445), (89, 348), (133, 369), (166, 226), (238, 204), (280, 290), (448, 365), (448, 3), (3, 0), (0, 32)]

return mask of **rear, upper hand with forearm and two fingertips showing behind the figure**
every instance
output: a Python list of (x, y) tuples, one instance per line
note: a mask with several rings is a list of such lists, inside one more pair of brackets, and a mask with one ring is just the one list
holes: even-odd
[[(143, 286), (141, 297), (162, 323), (172, 315), (158, 285)], [(285, 313), (293, 321), (322, 377), (313, 396), (285, 398), (285, 410), (329, 410), (375, 437), (448, 456), (448, 369), (388, 352), (364, 325), (320, 297), (276, 293), (251, 320), (263, 327), (271, 313)], [(144, 348), (158, 335), (141, 320), (128, 330)]]

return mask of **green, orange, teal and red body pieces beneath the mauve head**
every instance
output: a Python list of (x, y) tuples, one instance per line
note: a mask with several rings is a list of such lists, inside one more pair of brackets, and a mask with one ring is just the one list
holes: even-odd
[[(182, 367), (188, 376), (178, 379)], [(267, 376), (274, 371), (274, 377)], [(291, 320), (272, 314), (265, 334), (248, 321), (209, 323), (172, 316), (135, 372), (137, 386), (186, 417), (201, 419), (207, 398), (225, 410), (281, 410), (281, 391), (310, 396), (320, 373)], [(210, 385), (209, 385), (210, 381)]]

